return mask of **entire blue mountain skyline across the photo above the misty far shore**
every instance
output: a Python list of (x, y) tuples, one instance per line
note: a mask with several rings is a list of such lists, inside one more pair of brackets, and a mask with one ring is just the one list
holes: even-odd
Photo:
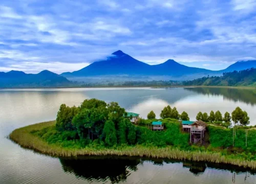
[(88, 78), (95, 77), (99, 77), (99, 80), (108, 81), (129, 81), (131, 78), (133, 78), (133, 80), (136, 80), (136, 78), (142, 80), (193, 80), (208, 75), (221, 76), (226, 72), (241, 71), (251, 67), (256, 68), (256, 60), (240, 60), (220, 71), (211, 71), (205, 68), (186, 66), (173, 59), (168, 59), (160, 64), (150, 65), (123, 53), (121, 50), (118, 50), (113, 52), (112, 55), (106, 59), (93, 62), (90, 65), (74, 72), (66, 72), (58, 75), (48, 70), (41, 71), (38, 74), (26, 74), (22, 71), (10, 71), (7, 73), (0, 72), (0, 78), (3, 78), (4, 76), (10, 80), (11, 78), (26, 78), (25, 76), (31, 77), (31, 75), (37, 75), (41, 76), (41, 79), (36, 77), (38, 80), (42, 80), (42, 78), (47, 80), (47, 76), (48, 79), (58, 78), (62, 81), (65, 81), (65, 79), (75, 81), (78, 78), (86, 78), (82, 80), (86, 82), (88, 82)]

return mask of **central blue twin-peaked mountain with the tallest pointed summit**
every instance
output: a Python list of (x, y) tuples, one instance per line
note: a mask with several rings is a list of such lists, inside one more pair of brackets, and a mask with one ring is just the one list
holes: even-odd
[(214, 71), (202, 68), (188, 67), (171, 59), (161, 64), (149, 65), (123, 53), (122, 51), (116, 51), (105, 60), (94, 62), (79, 71), (63, 73), (61, 76), (72, 79), (95, 76), (188, 77), (189, 75), (194, 75), (196, 78), (214, 73)]

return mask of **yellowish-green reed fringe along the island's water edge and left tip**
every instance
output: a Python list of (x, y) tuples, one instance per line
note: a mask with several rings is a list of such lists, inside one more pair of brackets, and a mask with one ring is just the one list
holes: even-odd
[(117, 156), (141, 156), (153, 158), (169, 158), (191, 161), (205, 161), (212, 163), (231, 164), (251, 169), (256, 169), (256, 161), (233, 158), (232, 155), (222, 155), (219, 152), (209, 151), (185, 151), (172, 146), (164, 148), (146, 147), (142, 145), (124, 146), (117, 148), (64, 148), (55, 144), (48, 144), (40, 137), (31, 134), (31, 131), (41, 130), (49, 126), (54, 126), (55, 121), (38, 123), (23, 128), (18, 128), (10, 134), (10, 139), (22, 147), (33, 149), (51, 156), (80, 156), (80, 155), (117, 155)]

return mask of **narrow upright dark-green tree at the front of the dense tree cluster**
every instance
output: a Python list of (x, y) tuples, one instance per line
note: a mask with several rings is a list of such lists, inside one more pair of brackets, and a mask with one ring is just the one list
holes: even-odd
[(117, 144), (116, 128), (113, 121), (106, 121), (103, 128), (103, 134), (107, 146), (114, 146)]

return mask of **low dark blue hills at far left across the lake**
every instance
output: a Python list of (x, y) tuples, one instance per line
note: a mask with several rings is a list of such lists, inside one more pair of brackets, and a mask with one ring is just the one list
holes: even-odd
[(72, 83), (65, 77), (50, 71), (42, 71), (38, 74), (25, 74), (20, 71), (10, 71), (0, 73), (0, 87), (62, 87)]

